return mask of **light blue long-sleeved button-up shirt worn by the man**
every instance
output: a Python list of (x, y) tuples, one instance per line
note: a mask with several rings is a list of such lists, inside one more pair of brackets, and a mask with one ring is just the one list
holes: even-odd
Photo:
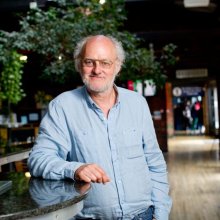
[(92, 184), (80, 216), (131, 219), (154, 205), (156, 219), (167, 220), (167, 168), (147, 102), (136, 92), (117, 91), (108, 118), (85, 87), (52, 100), (28, 159), (30, 172), (46, 179), (73, 179), (79, 166), (97, 163), (111, 181)]

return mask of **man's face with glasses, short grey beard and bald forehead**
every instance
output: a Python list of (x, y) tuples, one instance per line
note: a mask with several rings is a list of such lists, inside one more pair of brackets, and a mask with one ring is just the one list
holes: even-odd
[(81, 61), (81, 77), (90, 92), (109, 91), (119, 69), (115, 47), (108, 38), (94, 37), (87, 42)]

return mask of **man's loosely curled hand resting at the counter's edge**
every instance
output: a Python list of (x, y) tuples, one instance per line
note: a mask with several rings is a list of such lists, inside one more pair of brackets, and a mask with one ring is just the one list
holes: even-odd
[(85, 164), (75, 171), (75, 180), (84, 181), (86, 183), (107, 183), (110, 182), (105, 171), (97, 164)]

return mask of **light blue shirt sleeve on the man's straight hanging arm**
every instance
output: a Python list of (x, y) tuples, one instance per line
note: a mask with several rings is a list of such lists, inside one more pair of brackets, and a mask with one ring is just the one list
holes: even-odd
[(152, 202), (155, 206), (154, 217), (157, 220), (168, 220), (172, 199), (169, 196), (167, 165), (158, 145), (148, 104), (146, 104), (146, 100), (144, 101), (143, 144), (152, 180)]

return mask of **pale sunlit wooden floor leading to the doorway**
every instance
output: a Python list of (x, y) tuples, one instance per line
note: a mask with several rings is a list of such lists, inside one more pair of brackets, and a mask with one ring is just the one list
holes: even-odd
[(218, 146), (217, 139), (203, 136), (169, 139), (170, 220), (220, 220)]

